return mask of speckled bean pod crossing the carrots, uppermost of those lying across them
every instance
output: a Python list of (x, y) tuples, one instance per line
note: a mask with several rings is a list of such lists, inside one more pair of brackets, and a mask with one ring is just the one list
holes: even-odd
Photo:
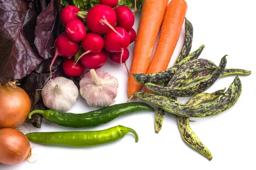
[(201, 45), (196, 51), (189, 54), (187, 57), (182, 59), (179, 63), (159, 73), (132, 74), (132, 76), (134, 77), (135, 81), (140, 84), (145, 84), (147, 82), (151, 82), (154, 84), (161, 84), (162, 82), (169, 81), (169, 79), (172, 78), (172, 76), (175, 74), (178, 68), (181, 67), (181, 65), (183, 65), (184, 63), (192, 59), (198, 58), (201, 52), (203, 51), (203, 49), (204, 49), (204, 45)]

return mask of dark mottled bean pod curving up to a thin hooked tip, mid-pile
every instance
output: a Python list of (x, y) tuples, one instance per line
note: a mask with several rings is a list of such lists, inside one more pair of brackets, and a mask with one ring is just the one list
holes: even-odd
[[(199, 94), (211, 87), (218, 79), (227, 64), (226, 56), (222, 57), (219, 67), (211, 76), (186, 87), (161, 87), (152, 83), (146, 83), (145, 87), (161, 96), (187, 97)], [(186, 76), (183, 75), (182, 76)]]

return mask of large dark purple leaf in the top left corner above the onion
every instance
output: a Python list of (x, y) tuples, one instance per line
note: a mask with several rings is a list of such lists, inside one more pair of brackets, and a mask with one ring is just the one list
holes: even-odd
[(29, 10), (27, 2), (0, 0), (0, 81), (21, 79), (41, 62), (38, 54), (22, 35)]

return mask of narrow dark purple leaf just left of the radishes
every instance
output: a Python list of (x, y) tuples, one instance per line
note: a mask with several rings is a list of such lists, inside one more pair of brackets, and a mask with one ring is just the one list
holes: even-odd
[(35, 28), (35, 46), (44, 59), (53, 57), (54, 42), (58, 31), (58, 8), (56, 0), (52, 0), (37, 18)]

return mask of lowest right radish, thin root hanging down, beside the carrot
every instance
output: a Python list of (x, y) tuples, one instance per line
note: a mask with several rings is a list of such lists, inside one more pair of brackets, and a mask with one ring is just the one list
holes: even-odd
[[(123, 48), (122, 51), (110, 53), (109, 58), (113, 63), (122, 64), (126, 62), (126, 60), (129, 58), (129, 55), (130, 55), (129, 50), (127, 48)], [(126, 63), (125, 63), (125, 68), (129, 74)]]

